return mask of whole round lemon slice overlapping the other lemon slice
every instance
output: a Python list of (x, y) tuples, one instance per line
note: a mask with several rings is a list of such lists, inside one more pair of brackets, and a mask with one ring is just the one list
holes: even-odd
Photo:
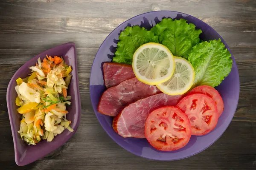
[(135, 51), (132, 68), (141, 82), (157, 85), (172, 77), (175, 62), (171, 51), (166, 46), (149, 42)]

